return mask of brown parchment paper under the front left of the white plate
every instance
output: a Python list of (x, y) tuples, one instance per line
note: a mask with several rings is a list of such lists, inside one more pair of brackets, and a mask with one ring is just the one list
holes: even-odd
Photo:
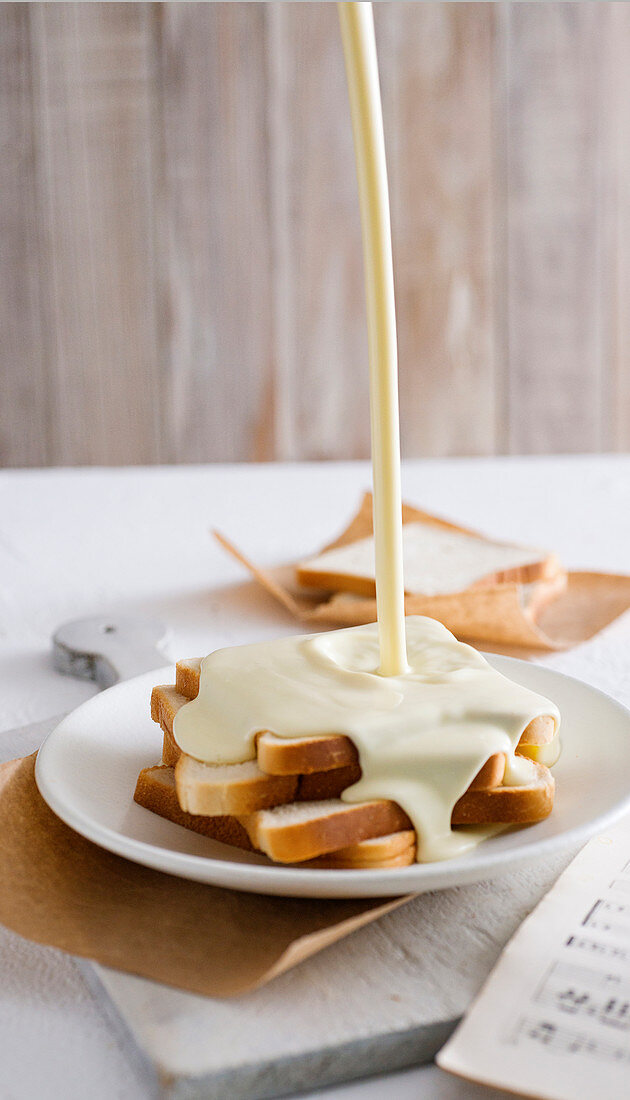
[(141, 867), (64, 825), (34, 766), (35, 755), (0, 766), (0, 922), (36, 943), (231, 997), (408, 901), (266, 898)]

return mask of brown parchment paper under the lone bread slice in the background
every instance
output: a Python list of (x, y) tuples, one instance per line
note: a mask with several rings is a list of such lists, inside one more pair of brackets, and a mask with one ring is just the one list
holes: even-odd
[[(483, 538), (429, 513), (402, 506), (402, 522), (430, 521), (451, 530)], [(373, 532), (372, 494), (366, 493), (345, 530), (323, 550), (347, 546)], [(376, 620), (376, 600), (336, 592), (325, 595), (301, 588), (297, 562), (263, 570), (224, 535), (214, 531), (221, 546), (241, 562), (267, 592), (296, 618), (313, 626), (358, 626)], [(313, 551), (314, 552), (314, 551)], [(586, 641), (630, 607), (630, 576), (560, 570), (550, 580), (529, 584), (484, 584), (445, 596), (406, 595), (407, 615), (439, 619), (457, 638), (480, 642), (499, 651), (527, 656), (540, 650), (565, 649)]]

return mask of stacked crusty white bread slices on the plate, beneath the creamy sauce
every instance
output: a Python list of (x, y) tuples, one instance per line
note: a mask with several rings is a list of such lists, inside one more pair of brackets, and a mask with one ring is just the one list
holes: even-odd
[[(327, 868), (405, 867), (416, 859), (416, 833), (407, 814), (384, 799), (349, 803), (342, 792), (361, 777), (349, 737), (256, 738), (256, 759), (213, 766), (181, 752), (175, 715), (199, 691), (200, 659), (179, 661), (176, 683), (153, 689), (151, 714), (164, 734), (162, 763), (144, 768), (134, 799), (178, 825), (279, 864)], [(523, 825), (553, 806), (554, 781), (541, 759), (553, 755), (555, 724), (534, 719), (519, 744), (529, 757), (526, 781), (506, 779), (506, 758), (495, 754), (455, 804), (453, 825)], [(522, 768), (521, 768), (522, 772)]]

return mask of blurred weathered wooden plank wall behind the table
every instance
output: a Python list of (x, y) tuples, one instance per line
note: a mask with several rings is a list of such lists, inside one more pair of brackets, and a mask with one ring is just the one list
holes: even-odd
[[(378, 3), (406, 455), (630, 447), (630, 6)], [(0, 463), (368, 454), (333, 3), (0, 4)]]

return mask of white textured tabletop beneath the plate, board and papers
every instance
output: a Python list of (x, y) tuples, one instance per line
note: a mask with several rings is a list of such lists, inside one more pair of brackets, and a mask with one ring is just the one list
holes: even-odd
[[(295, 630), (210, 528), (273, 564), (333, 537), (367, 487), (365, 463), (0, 473), (0, 726), (62, 713), (95, 691), (52, 668), (49, 637), (68, 618), (158, 616), (173, 631), (170, 658)], [(499, 538), (546, 546), (573, 568), (630, 570), (629, 457), (412, 462), (404, 495)], [(629, 616), (544, 660), (630, 703)], [(2, 930), (0, 945), (1, 1094), (156, 1094), (70, 958)], [(385, 1089), (401, 1100), (499, 1094), (433, 1068), (318, 1094), (375, 1100)]]

